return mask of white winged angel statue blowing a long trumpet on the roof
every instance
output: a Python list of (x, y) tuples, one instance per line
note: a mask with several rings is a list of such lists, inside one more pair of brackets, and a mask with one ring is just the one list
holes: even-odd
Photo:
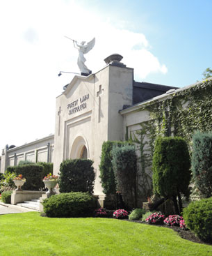
[[(65, 36), (68, 38), (67, 36)], [(71, 39), (71, 38), (68, 38)], [(92, 50), (92, 47), (95, 46), (95, 38), (93, 38), (90, 42), (86, 43), (85, 41), (82, 41), (81, 43), (78, 43), (76, 40), (71, 39), (74, 43), (74, 47), (79, 51), (79, 57), (77, 59), (77, 65), (79, 66), (79, 70), (81, 73), (90, 74), (91, 71), (87, 68), (85, 65), (85, 57), (84, 54), (90, 52)]]

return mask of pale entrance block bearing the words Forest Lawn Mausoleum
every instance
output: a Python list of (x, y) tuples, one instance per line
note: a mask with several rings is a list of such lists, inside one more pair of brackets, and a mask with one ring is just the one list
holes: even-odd
[[(108, 65), (88, 77), (74, 77), (56, 98), (55, 174), (63, 160), (79, 157), (84, 143), (88, 158), (94, 161), (95, 194), (103, 194), (99, 179), (101, 146), (107, 140), (123, 140), (123, 118), (119, 110), (123, 105), (131, 105), (132, 86), (132, 68)], [(85, 95), (89, 95), (86, 107), (73, 113), (73, 106), (69, 106), (79, 107), (80, 98)]]

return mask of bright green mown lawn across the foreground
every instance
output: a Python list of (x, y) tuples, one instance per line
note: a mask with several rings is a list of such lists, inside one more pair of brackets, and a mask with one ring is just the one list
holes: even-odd
[(165, 227), (106, 218), (0, 216), (0, 255), (212, 255), (212, 246), (181, 239)]

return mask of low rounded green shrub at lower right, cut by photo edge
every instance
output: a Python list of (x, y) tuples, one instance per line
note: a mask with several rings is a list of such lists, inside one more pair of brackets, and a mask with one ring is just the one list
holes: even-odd
[(183, 216), (188, 228), (200, 239), (212, 241), (212, 197), (191, 202)]

